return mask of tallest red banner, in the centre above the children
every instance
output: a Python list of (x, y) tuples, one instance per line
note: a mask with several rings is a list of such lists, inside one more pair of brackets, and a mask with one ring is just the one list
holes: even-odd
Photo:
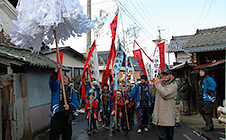
[[(116, 56), (115, 35), (116, 35), (116, 29), (117, 29), (117, 22), (118, 22), (118, 11), (116, 13), (115, 18), (113, 19), (113, 21), (110, 24), (111, 33), (112, 33), (112, 42), (111, 42), (111, 49), (110, 49), (108, 60), (107, 60), (107, 64), (106, 64), (106, 71), (105, 72), (103, 71), (103, 75), (102, 75), (101, 88), (103, 88), (103, 84), (108, 81), (108, 78), (110, 76), (110, 73), (109, 73), (109, 65), (110, 65), (110, 62), (112, 62), (112, 69), (113, 69), (113, 66), (114, 66), (114, 61), (115, 61), (115, 56)], [(105, 76), (104, 76), (104, 74), (105, 74)], [(113, 73), (112, 73), (112, 75), (113, 75)], [(114, 85), (113, 85), (113, 92), (115, 92), (114, 91)]]

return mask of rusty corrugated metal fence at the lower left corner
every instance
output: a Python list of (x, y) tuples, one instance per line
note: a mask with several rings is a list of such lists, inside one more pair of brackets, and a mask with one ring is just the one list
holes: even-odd
[(0, 75), (0, 92), (2, 140), (31, 140), (26, 74)]

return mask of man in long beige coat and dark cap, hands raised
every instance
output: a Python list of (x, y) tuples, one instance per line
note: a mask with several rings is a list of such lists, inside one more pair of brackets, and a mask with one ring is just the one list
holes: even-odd
[(170, 78), (171, 71), (162, 71), (163, 79), (151, 82), (150, 93), (155, 97), (153, 124), (158, 128), (160, 140), (173, 140), (175, 125), (175, 97), (177, 84)]

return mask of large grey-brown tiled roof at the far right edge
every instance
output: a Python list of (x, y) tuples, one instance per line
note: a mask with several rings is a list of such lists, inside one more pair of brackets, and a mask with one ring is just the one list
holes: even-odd
[(197, 30), (196, 34), (183, 46), (183, 49), (193, 52), (222, 50), (225, 48), (226, 26)]

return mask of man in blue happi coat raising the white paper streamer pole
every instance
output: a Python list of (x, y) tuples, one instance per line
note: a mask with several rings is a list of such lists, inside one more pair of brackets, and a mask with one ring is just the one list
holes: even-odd
[[(62, 64), (57, 67), (49, 79), (49, 87), (51, 90), (51, 122), (50, 122), (50, 140), (62, 139), (70, 140), (72, 136), (72, 120), (75, 118), (74, 112), (78, 108), (77, 93), (69, 87), (70, 79), (63, 76), (64, 85), (58, 82), (58, 70), (62, 69)], [(66, 101), (62, 93), (62, 86), (65, 88)]]

